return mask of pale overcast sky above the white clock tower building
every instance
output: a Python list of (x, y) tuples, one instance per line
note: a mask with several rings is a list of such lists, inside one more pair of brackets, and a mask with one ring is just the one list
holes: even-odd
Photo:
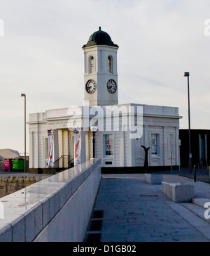
[(22, 93), (27, 120), (83, 105), (82, 46), (99, 26), (120, 46), (119, 103), (177, 107), (188, 129), (187, 71), (191, 127), (209, 129), (209, 10), (209, 0), (0, 0), (0, 148), (24, 151)]

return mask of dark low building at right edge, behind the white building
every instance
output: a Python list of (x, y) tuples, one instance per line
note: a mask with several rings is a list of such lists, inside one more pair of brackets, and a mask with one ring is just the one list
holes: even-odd
[[(189, 133), (188, 129), (179, 130), (181, 139), (181, 167), (189, 165)], [(210, 130), (191, 129), (192, 162), (197, 167), (210, 165)]]

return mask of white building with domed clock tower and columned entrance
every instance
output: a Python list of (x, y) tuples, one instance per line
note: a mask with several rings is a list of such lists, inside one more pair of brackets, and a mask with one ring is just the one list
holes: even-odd
[[(46, 168), (48, 130), (55, 130), (55, 167), (68, 167), (74, 158), (74, 128), (82, 127), (82, 162), (92, 158), (91, 126), (97, 126), (96, 158), (102, 167), (179, 165), (179, 109), (141, 104), (118, 105), (118, 45), (109, 34), (94, 32), (83, 46), (84, 106), (29, 115), (29, 168)], [(134, 132), (137, 130), (137, 133)], [(63, 156), (63, 157), (62, 157)], [(59, 161), (56, 161), (58, 159)]]

